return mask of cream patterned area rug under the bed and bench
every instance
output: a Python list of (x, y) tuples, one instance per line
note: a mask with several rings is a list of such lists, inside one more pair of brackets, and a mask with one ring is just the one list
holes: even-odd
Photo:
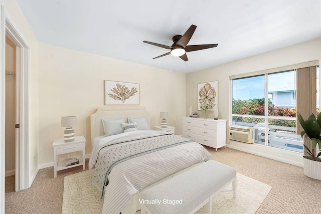
[[(93, 173), (94, 169), (65, 177), (62, 213), (101, 213), (103, 200), (91, 184)], [(271, 186), (237, 173), (237, 199), (231, 191), (219, 193), (213, 199), (212, 213), (255, 213), (270, 190)], [(206, 212), (204, 206), (197, 213)]]

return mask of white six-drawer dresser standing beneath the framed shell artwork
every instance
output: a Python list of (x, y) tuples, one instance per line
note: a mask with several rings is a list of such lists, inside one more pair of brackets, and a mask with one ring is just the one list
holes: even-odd
[(216, 149), (226, 146), (226, 120), (183, 117), (183, 137)]

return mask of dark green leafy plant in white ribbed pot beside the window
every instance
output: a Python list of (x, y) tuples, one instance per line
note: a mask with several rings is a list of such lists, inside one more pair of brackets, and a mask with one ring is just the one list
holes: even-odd
[(311, 139), (312, 148), (311, 150), (303, 144), (306, 153), (308, 155), (303, 155), (303, 168), (304, 174), (308, 177), (321, 180), (321, 152), (316, 153), (316, 145), (321, 148), (321, 112), (317, 115), (317, 118), (312, 113), (307, 120), (304, 120), (300, 114), (298, 114), (298, 119), (302, 128), (304, 129), (301, 132), (301, 137), (305, 135)]

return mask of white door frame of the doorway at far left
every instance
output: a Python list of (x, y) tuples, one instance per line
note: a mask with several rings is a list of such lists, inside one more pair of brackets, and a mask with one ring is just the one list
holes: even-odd
[[(6, 36), (16, 45), (16, 191), (27, 189), (30, 179), (30, 48), (17, 30), (5, 7), (0, 10), (0, 195), (5, 198), (5, 47)], [(0, 213), (4, 211), (4, 200), (0, 202)]]

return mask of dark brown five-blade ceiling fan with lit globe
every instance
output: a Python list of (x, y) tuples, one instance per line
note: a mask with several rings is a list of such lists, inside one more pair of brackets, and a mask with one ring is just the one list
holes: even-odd
[(163, 54), (161, 56), (152, 58), (152, 59), (157, 59), (159, 57), (164, 57), (167, 55), (173, 55), (175, 57), (180, 57), (182, 60), (185, 62), (188, 61), (189, 59), (187, 58), (186, 52), (191, 52), (191, 51), (199, 51), (203, 49), (208, 49), (208, 48), (215, 48), (217, 47), (217, 44), (207, 44), (207, 45), (187, 45), (194, 32), (195, 32), (196, 26), (191, 25), (191, 27), (185, 32), (183, 36), (181, 35), (176, 35), (173, 37), (173, 45), (172, 46), (167, 46), (167, 45), (162, 45), (162, 44), (157, 44), (157, 43), (152, 43), (148, 41), (142, 41), (143, 43), (147, 43), (149, 45), (154, 45), (158, 46), (161, 48), (165, 48), (168, 50), (171, 50), (169, 53)]

